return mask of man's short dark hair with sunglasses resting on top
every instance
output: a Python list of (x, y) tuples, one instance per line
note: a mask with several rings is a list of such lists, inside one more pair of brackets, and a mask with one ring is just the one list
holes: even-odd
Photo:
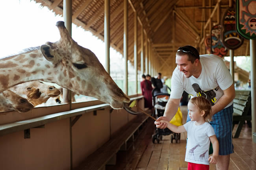
[(179, 47), (176, 55), (180, 55), (180, 56), (187, 55), (188, 61), (191, 61), (191, 63), (194, 63), (196, 59), (200, 60), (198, 50), (195, 47), (190, 45)]

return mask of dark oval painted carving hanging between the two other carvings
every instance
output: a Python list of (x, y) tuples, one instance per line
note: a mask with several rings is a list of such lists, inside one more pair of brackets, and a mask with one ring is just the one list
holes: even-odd
[(226, 9), (221, 23), (223, 26), (223, 31), (221, 31), (223, 45), (230, 50), (236, 50), (243, 44), (243, 37), (236, 31), (235, 8)]

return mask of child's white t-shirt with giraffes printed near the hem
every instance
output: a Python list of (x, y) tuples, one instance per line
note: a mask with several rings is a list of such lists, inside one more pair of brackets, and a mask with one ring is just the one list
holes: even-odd
[(202, 125), (195, 125), (195, 121), (189, 121), (183, 126), (187, 131), (185, 161), (197, 164), (209, 164), (209, 137), (215, 135), (213, 127), (208, 122)]

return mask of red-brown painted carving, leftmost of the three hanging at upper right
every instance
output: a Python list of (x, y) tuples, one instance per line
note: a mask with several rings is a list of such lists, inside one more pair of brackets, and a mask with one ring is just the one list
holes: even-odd
[(221, 24), (217, 24), (211, 28), (211, 53), (224, 57), (228, 53), (228, 49), (223, 45), (221, 40), (221, 30)]

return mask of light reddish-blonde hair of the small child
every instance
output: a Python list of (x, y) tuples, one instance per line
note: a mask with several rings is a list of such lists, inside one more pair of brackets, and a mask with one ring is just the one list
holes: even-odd
[(206, 122), (211, 121), (211, 103), (209, 100), (202, 96), (193, 97), (191, 100), (189, 100), (193, 105), (196, 105), (198, 107), (198, 111), (204, 111), (204, 120)]

